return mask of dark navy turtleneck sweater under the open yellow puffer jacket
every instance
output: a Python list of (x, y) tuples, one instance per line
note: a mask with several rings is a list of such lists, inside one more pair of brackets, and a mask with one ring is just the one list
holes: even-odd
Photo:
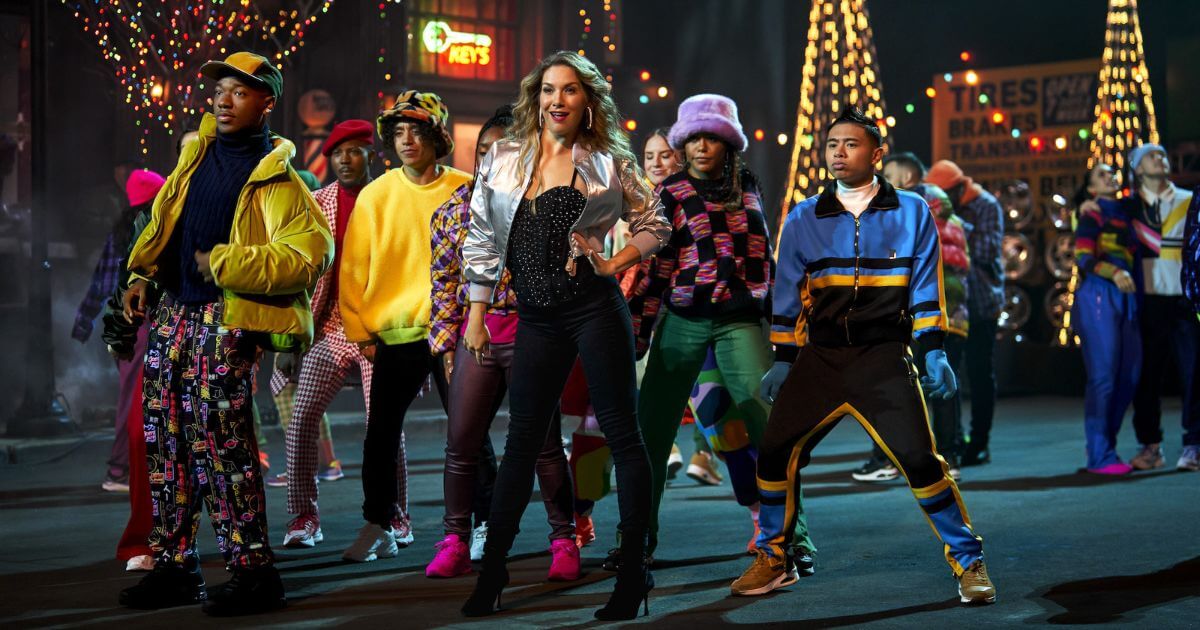
[(175, 229), (174, 235), (179, 241), (179, 301), (196, 305), (221, 298), (221, 289), (197, 269), (196, 252), (229, 242), (238, 197), (270, 150), (265, 126), (236, 134), (218, 132), (216, 142), (209, 144), (187, 186), (182, 229)]

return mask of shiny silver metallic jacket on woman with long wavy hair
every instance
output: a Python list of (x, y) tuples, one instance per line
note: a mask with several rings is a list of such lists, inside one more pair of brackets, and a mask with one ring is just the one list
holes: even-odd
[[(470, 282), (470, 301), (491, 304), (496, 283), (504, 270), (509, 251), (509, 232), (517, 205), (524, 197), (533, 175), (533, 152), (520, 161), (521, 144), (498, 140), (479, 164), (475, 188), (470, 196), (470, 227), (462, 246), (462, 260)], [(632, 168), (624, 168), (606, 152), (590, 151), (576, 143), (571, 160), (587, 185), (587, 204), (571, 232), (582, 234), (592, 248), (604, 251), (604, 239), (618, 218), (629, 222), (642, 258), (659, 251), (671, 239), (671, 223), (658, 196), (636, 185)], [(629, 196), (635, 203), (629, 204)], [(582, 256), (571, 242), (571, 257)], [(568, 266), (571, 262), (568, 260)]]

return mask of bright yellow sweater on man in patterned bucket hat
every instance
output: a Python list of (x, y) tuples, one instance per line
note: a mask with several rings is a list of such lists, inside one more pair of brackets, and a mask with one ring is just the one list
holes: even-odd
[(450, 167), (419, 186), (395, 168), (359, 193), (342, 245), (337, 294), (346, 338), (424, 341), (431, 299), (430, 220), (470, 175)]

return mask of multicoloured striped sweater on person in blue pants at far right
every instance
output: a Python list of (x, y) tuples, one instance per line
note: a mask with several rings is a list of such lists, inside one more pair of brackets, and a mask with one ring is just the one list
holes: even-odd
[(1099, 210), (1080, 212), (1075, 226), (1075, 265), (1084, 275), (1109, 280), (1117, 270), (1133, 272), (1138, 238), (1120, 202), (1097, 199)]

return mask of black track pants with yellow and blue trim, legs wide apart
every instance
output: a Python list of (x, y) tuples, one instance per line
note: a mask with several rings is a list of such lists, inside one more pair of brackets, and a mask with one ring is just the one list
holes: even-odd
[(934, 448), (917, 368), (901, 342), (800, 349), (758, 450), (758, 548), (785, 557), (799, 506), (800, 469), (809, 464), (817, 443), (847, 415), (908, 480), (954, 575), (983, 558), (983, 540), (971, 530), (959, 487)]

